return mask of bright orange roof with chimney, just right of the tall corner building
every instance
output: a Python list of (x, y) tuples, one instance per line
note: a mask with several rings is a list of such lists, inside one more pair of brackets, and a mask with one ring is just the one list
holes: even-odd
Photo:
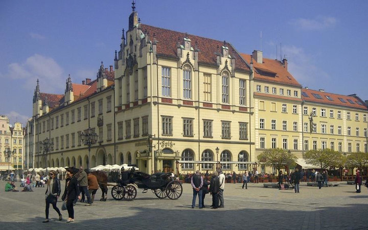
[[(250, 63), (249, 54), (241, 54), (241, 56), (245, 59), (245, 61)], [(253, 66), (255, 68), (254, 78), (256, 80), (277, 82), (302, 87), (302, 85), (296, 81), (296, 79), (287, 71), (287, 68), (285, 68), (283, 63), (279, 60), (263, 58), (263, 63), (258, 63), (253, 58)]]

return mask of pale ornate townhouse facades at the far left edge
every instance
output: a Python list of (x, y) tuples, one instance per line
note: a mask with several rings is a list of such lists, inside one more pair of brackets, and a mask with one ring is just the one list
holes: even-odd
[[(23, 139), (22, 124), (15, 122), (12, 126), (7, 116), (0, 115), (0, 170), (22, 169)], [(11, 151), (10, 157), (4, 153), (6, 150)]]

